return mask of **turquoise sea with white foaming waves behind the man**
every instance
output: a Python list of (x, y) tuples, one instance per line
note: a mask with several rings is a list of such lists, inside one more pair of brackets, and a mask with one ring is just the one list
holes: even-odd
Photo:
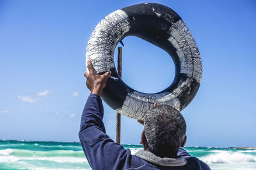
[[(141, 145), (122, 145), (134, 154)], [(211, 169), (256, 169), (256, 149), (184, 147)], [(0, 169), (91, 169), (80, 143), (0, 140)]]

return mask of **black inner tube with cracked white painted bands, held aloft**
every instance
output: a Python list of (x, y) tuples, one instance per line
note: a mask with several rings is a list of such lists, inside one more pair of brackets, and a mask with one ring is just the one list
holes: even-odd
[[(126, 36), (144, 39), (169, 53), (175, 78), (168, 88), (145, 94), (121, 80), (113, 57), (116, 45)], [(191, 32), (175, 11), (162, 4), (135, 4), (103, 18), (88, 41), (86, 64), (88, 59), (97, 73), (112, 72), (102, 99), (113, 110), (137, 120), (143, 120), (154, 103), (183, 110), (195, 97), (202, 78), (202, 61)]]

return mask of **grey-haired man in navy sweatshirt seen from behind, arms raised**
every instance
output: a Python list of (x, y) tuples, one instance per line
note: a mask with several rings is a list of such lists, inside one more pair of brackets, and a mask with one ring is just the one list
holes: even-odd
[(84, 76), (91, 95), (84, 106), (79, 139), (92, 169), (210, 169), (180, 148), (186, 143), (186, 122), (179, 111), (170, 106), (154, 104), (148, 111), (141, 134), (143, 151), (131, 155), (129, 149), (110, 139), (102, 122), (100, 96), (111, 72), (97, 74), (91, 60), (88, 60), (88, 71)]

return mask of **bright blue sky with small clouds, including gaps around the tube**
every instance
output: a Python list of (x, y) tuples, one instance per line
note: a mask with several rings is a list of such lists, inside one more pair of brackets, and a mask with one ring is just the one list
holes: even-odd
[[(155, 2), (175, 10), (200, 50), (202, 83), (186, 107), (188, 146), (255, 146), (255, 1), (3, 1), (0, 0), (0, 139), (78, 141), (90, 94), (83, 73), (88, 39), (112, 11)], [(122, 78), (141, 92), (172, 83), (171, 57), (127, 37)], [(116, 59), (116, 53), (115, 53)], [(115, 139), (116, 113), (104, 104)], [(143, 127), (122, 117), (121, 143), (140, 142)]]

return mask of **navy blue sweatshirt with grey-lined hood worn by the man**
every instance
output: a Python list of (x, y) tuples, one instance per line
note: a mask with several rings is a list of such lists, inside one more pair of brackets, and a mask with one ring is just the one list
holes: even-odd
[(92, 169), (210, 169), (183, 148), (176, 159), (160, 158), (148, 151), (131, 155), (131, 150), (109, 138), (102, 118), (102, 100), (91, 94), (84, 106), (79, 139)]

